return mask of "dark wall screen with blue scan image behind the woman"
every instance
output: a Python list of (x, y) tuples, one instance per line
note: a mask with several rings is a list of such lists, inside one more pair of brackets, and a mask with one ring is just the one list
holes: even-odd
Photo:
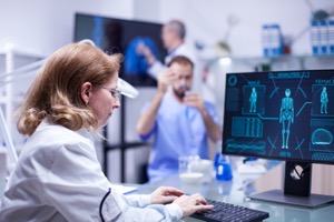
[(161, 24), (136, 20), (106, 18), (76, 13), (73, 41), (90, 39), (106, 53), (125, 56), (119, 77), (136, 87), (156, 87), (157, 81), (147, 73), (145, 58), (137, 53), (139, 43), (150, 48), (164, 61), (166, 50), (160, 39)]

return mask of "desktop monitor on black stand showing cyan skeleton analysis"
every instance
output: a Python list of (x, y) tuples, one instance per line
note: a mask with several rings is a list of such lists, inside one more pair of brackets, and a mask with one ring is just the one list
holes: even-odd
[[(284, 191), (250, 199), (304, 206), (331, 202), (312, 194), (312, 163), (334, 164), (334, 70), (226, 74), (223, 154), (282, 160)], [(299, 174), (297, 167), (302, 168)]]

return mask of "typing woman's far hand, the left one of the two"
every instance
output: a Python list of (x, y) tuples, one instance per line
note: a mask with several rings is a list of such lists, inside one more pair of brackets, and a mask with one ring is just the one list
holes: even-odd
[(150, 202), (153, 204), (171, 203), (183, 194), (184, 192), (178, 189), (160, 186), (150, 194)]

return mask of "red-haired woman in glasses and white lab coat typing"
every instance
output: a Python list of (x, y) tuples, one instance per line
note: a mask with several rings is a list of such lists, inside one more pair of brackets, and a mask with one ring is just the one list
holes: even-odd
[(110, 189), (91, 134), (120, 107), (121, 59), (71, 43), (48, 60), (18, 112), (18, 130), (29, 140), (8, 181), (0, 221), (177, 221), (213, 208), (200, 194), (174, 188), (127, 196)]

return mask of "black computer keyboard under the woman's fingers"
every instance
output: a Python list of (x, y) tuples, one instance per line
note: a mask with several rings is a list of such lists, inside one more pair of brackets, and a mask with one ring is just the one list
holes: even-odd
[(253, 210), (242, 205), (235, 205), (214, 200), (207, 200), (207, 202), (215, 208), (207, 212), (194, 213), (190, 216), (209, 222), (255, 222), (269, 218), (269, 213), (264, 211)]

